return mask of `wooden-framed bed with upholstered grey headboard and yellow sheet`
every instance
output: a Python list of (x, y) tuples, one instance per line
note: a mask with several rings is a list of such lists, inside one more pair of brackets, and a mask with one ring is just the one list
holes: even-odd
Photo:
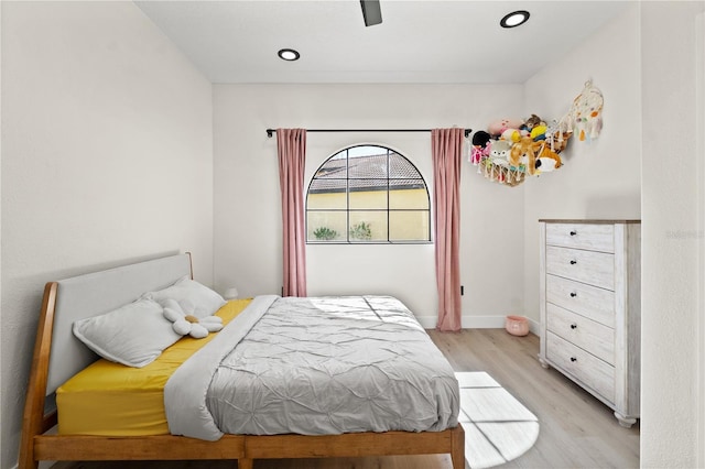
[[(404, 308), (398, 306), (394, 298), (390, 297), (292, 298), (301, 306), (299, 313), (295, 314), (291, 313), (290, 306), (283, 302), (284, 298), (276, 296), (257, 297), (246, 303), (230, 302), (217, 312), (218, 315), (225, 317), (223, 330), (210, 334), (208, 343), (204, 339), (204, 342), (198, 343), (195, 351), (189, 351), (189, 357), (175, 369), (176, 371), (169, 377), (166, 385), (163, 386), (164, 412), (169, 416), (167, 423), (159, 422), (142, 427), (138, 425), (133, 427), (132, 432), (112, 433), (111, 428), (82, 430), (79, 426), (74, 430), (74, 427), (66, 423), (69, 422), (67, 419), (69, 411), (67, 410), (72, 407), (64, 403), (56, 411), (51, 403), (55, 399), (59, 403), (62, 400), (66, 401), (66, 395), (70, 394), (70, 385), (68, 384), (86, 370), (104, 367), (101, 369), (102, 375), (112, 377), (110, 372), (106, 373), (105, 370), (111, 369), (110, 367), (128, 368), (111, 362), (104, 363), (105, 359), (99, 359), (90, 348), (86, 347), (83, 339), (77, 339), (74, 334), (75, 324), (93, 324), (91, 321), (95, 323), (96, 317), (110, 317), (105, 313), (116, 309), (123, 312), (124, 305), (138, 303), (137, 301), (143, 298), (145, 294), (151, 295), (149, 292), (162, 292), (184, 279), (193, 279), (189, 254), (169, 255), (46, 284), (24, 408), (20, 468), (36, 468), (41, 460), (234, 459), (238, 461), (238, 468), (250, 469), (252, 461), (259, 458), (427, 454), (451, 454), (455, 469), (465, 467), (464, 430), (457, 423), (459, 403), (455, 402), (453, 391), (455, 385), (455, 394), (457, 394), (457, 382), (453, 384), (446, 375), (433, 375), (427, 382), (422, 382), (421, 378), (419, 380), (414, 378), (430, 374), (426, 372), (429, 370), (449, 367), (447, 361), (442, 359), (442, 362), (434, 363), (424, 361), (425, 359), (421, 357), (417, 360), (412, 360), (417, 361), (422, 370), (426, 371), (413, 372), (410, 380), (412, 385), (411, 388), (406, 386), (405, 391), (403, 386), (398, 386), (398, 377), (393, 375), (393, 370), (397, 369), (394, 366), (395, 357), (408, 355), (404, 347), (415, 346), (411, 343), (413, 340), (389, 340), (386, 337), (388, 334), (393, 334), (394, 328), (400, 327), (405, 330), (405, 337), (421, 337), (415, 332), (415, 329), (421, 329), (421, 326), (408, 310), (402, 310)], [(361, 303), (369, 304), (369, 309), (359, 308)], [(274, 307), (278, 305), (279, 313)], [(308, 320), (307, 317), (313, 310), (311, 308), (332, 312), (335, 320), (326, 319), (325, 327), (334, 327), (330, 325), (337, 320), (355, 320), (355, 324), (365, 324), (366, 326), (362, 328), (351, 326), (352, 323), (343, 323), (347, 325), (343, 328), (338, 326), (340, 335), (335, 329), (323, 328), (318, 330), (318, 335), (326, 338), (325, 343), (312, 343), (308, 338), (302, 339), (302, 335), (310, 329), (310, 326), (314, 327), (315, 319), (311, 319), (311, 325), (302, 324)], [(380, 316), (383, 310), (387, 310), (383, 313), (386, 316)], [(350, 315), (350, 312), (354, 314)], [(356, 315), (359, 317), (355, 317)], [(268, 334), (268, 330), (273, 327), (272, 324), (290, 320), (289, 316), (292, 316), (294, 323), (284, 325), (284, 329), (281, 329), (283, 331)], [(292, 327), (292, 324), (301, 325), (301, 327)], [(371, 340), (369, 343), (383, 343), (380, 350), (391, 355), (377, 357), (378, 363), (372, 368), (369, 366), (352, 367), (360, 368), (362, 374), (350, 374), (349, 377), (346, 374), (345, 379), (334, 380), (335, 385), (345, 380), (367, 382), (368, 384), (364, 385), (364, 392), (347, 391), (351, 392), (349, 397), (341, 399), (339, 396), (344, 393), (341, 394), (339, 390), (334, 389), (334, 392), (330, 389), (313, 391), (317, 401), (322, 401), (322, 396), (338, 395), (335, 405), (352, 403), (351, 410), (343, 411), (345, 418), (326, 416), (326, 413), (329, 414), (329, 410), (326, 408), (318, 408), (318, 416), (302, 414), (301, 408), (317, 407), (318, 404), (300, 403), (299, 395), (292, 399), (291, 390), (284, 392), (281, 389), (273, 389), (272, 383), (292, 382), (299, 379), (308, 382), (313, 381), (312, 378), (299, 377), (297, 374), (294, 378), (289, 377), (282, 380), (281, 375), (268, 375), (264, 370), (275, 369), (270, 366), (271, 360), (289, 361), (294, 356), (301, 356), (307, 363), (312, 357), (325, 357), (325, 371), (336, 377), (343, 377), (343, 374), (336, 374), (336, 367), (339, 366), (339, 362), (354, 362), (358, 359), (355, 357), (357, 353), (354, 349), (340, 349), (348, 342), (348, 337), (344, 336), (344, 332), (348, 334), (350, 329), (361, 329), (361, 332), (357, 334), (358, 336)], [(423, 332), (423, 329), (421, 331)], [(425, 335), (425, 332), (423, 334)], [(264, 343), (271, 340), (274, 340), (275, 343)], [(238, 346), (227, 346), (228, 341), (237, 342)], [(405, 343), (408, 341), (410, 343)], [(191, 347), (189, 342), (199, 341), (181, 339), (175, 343), (188, 348)], [(245, 348), (246, 342), (251, 342), (250, 347)], [(292, 352), (291, 347), (294, 347), (294, 342), (306, 343), (306, 350)], [(167, 356), (167, 351), (180, 355), (181, 352), (174, 351), (176, 349), (176, 346), (166, 348), (163, 356)], [(265, 352), (262, 355), (263, 350)], [(434, 356), (436, 353), (441, 355), (437, 349), (424, 350), (422, 355)], [(340, 360), (339, 356), (345, 356), (345, 359)], [(214, 357), (217, 358), (214, 359)], [(337, 361), (332, 361), (330, 358), (335, 358)], [(159, 360), (161, 359), (162, 357), (159, 358)], [(247, 363), (247, 367), (250, 368), (238, 369), (236, 363)], [(144, 368), (151, 366), (152, 363)], [(378, 373), (379, 369), (383, 367), (388, 367), (384, 373)], [(306, 367), (296, 366), (294, 368), (299, 372)], [(213, 372), (215, 374), (207, 374), (212, 371), (205, 369), (216, 370)], [(263, 393), (262, 388), (254, 388), (256, 391), (234, 393), (228, 385), (224, 384), (219, 392), (225, 393), (226, 397), (213, 394), (215, 391), (212, 391), (210, 386), (217, 388), (214, 383), (228, 382), (228, 380), (219, 380), (214, 377), (227, 373), (235, 373), (234, 377), (238, 383), (245, 383), (248, 381), (248, 377), (256, 377), (257, 379), (249, 380), (252, 382), (251, 385), (262, 386), (264, 384), (264, 388), (270, 390), (270, 394), (274, 397), (284, 393), (286, 399), (280, 400), (282, 402), (273, 397), (267, 401), (263, 404), (263, 407), (269, 412), (269, 414), (263, 414), (267, 415), (267, 418), (250, 418), (248, 421), (250, 426), (241, 425), (242, 418), (239, 417), (239, 419), (229, 422), (230, 417), (226, 416), (229, 414), (219, 414), (217, 411), (218, 403), (225, 402), (221, 405), (224, 408), (239, 407), (238, 412), (247, 413), (250, 412), (252, 405), (260, 402)], [(321, 370), (316, 373), (321, 373)], [(348, 372), (346, 371), (346, 373)], [(177, 375), (181, 375), (182, 381), (176, 381)], [(370, 377), (370, 379), (365, 381), (367, 378), (364, 380), (360, 377)], [(204, 383), (207, 383), (208, 386), (207, 394), (203, 392), (203, 386), (206, 385)], [(193, 389), (186, 390), (189, 386)], [(430, 391), (423, 386), (433, 386), (434, 390)], [(379, 391), (391, 388), (394, 390), (399, 388), (398, 392), (408, 394), (404, 394), (403, 399), (388, 400), (390, 402), (384, 405), (391, 405), (391, 410), (379, 411), (379, 395), (381, 395)], [(241, 389), (247, 390), (248, 388)], [(417, 395), (409, 394), (409, 389), (416, 389), (411, 393), (417, 392)], [(443, 391), (444, 389), (449, 391)], [(59, 390), (58, 393), (57, 390)], [(196, 399), (185, 397), (184, 393), (186, 392), (193, 393), (192, 395)], [(227, 396), (228, 393), (231, 395)], [(58, 397), (56, 397), (57, 394)], [(240, 405), (246, 402), (243, 399), (248, 394), (251, 400), (248, 404)], [(425, 404), (421, 402), (429, 394), (434, 394), (434, 399), (438, 401)], [(199, 395), (203, 397), (198, 397)], [(149, 402), (150, 399), (152, 402), (161, 401), (162, 394), (158, 394), (156, 397), (154, 395), (147, 396), (145, 402)], [(199, 402), (198, 399), (203, 399), (203, 402)], [(74, 402), (77, 401), (80, 399), (74, 400)], [(296, 402), (292, 404), (293, 401)], [(175, 406), (170, 402), (185, 402), (187, 405)], [(149, 408), (150, 405), (145, 404), (144, 407)], [(437, 407), (440, 410), (437, 416), (424, 414), (424, 405)], [(186, 413), (180, 414), (184, 410), (178, 408), (176, 412), (175, 407), (186, 407)], [(375, 407), (371, 412), (373, 415), (389, 413), (397, 417), (379, 418), (371, 424), (356, 421), (359, 414), (366, 414), (365, 408), (368, 407)], [(214, 408), (213, 415), (210, 411), (206, 411), (210, 408)], [(416, 410), (420, 410), (419, 415), (413, 414)], [(194, 417), (198, 413), (203, 415)], [(369, 414), (369, 412), (367, 413)], [(300, 416), (299, 421), (295, 419), (296, 415)], [(285, 416), (285, 418), (281, 416)], [(208, 418), (209, 422), (194, 427), (193, 421), (202, 417)], [(96, 419), (102, 421), (102, 418)], [(247, 421), (247, 418), (245, 419)], [(313, 427), (301, 426), (304, 421), (315, 422), (315, 424)], [(57, 422), (62, 423), (58, 434), (54, 429)], [(366, 428), (365, 425), (371, 426)]]

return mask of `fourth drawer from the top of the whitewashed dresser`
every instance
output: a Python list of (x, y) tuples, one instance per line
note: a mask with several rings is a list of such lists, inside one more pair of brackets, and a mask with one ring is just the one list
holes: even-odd
[(546, 305), (546, 328), (568, 342), (615, 364), (615, 330), (560, 306)]

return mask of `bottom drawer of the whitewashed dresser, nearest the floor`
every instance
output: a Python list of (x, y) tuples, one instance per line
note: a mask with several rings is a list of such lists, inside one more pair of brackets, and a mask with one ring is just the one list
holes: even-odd
[(585, 350), (546, 332), (546, 358), (610, 403), (615, 402), (615, 368)]

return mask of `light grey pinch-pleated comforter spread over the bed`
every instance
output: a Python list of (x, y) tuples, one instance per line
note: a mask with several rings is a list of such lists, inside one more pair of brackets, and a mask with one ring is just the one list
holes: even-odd
[(458, 383), (389, 296), (259, 296), (166, 383), (174, 435), (443, 430)]

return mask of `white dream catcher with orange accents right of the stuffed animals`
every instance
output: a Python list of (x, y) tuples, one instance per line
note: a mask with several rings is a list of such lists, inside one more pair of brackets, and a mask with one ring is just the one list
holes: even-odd
[(581, 142), (590, 141), (599, 137), (603, 130), (603, 92), (593, 80), (585, 83), (583, 91), (575, 97), (567, 114), (558, 123), (560, 132), (573, 132)]

